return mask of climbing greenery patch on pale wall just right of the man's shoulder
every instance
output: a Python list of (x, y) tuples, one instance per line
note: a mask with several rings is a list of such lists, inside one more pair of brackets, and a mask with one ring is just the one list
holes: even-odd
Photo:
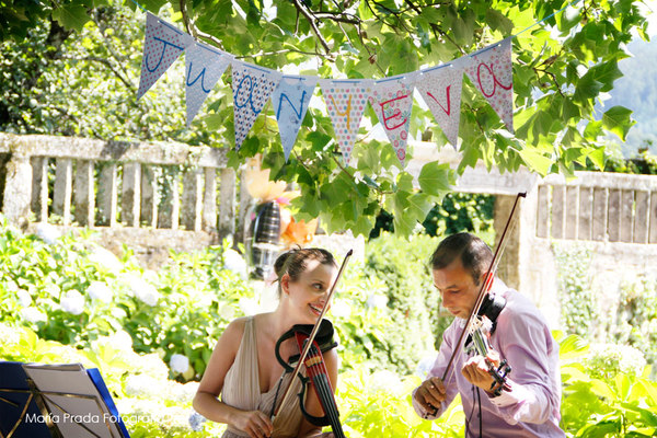
[(589, 265), (591, 252), (585, 245), (552, 245), (557, 266), (558, 300), (562, 324), (568, 333), (591, 338), (598, 319), (596, 295), (591, 290)]

